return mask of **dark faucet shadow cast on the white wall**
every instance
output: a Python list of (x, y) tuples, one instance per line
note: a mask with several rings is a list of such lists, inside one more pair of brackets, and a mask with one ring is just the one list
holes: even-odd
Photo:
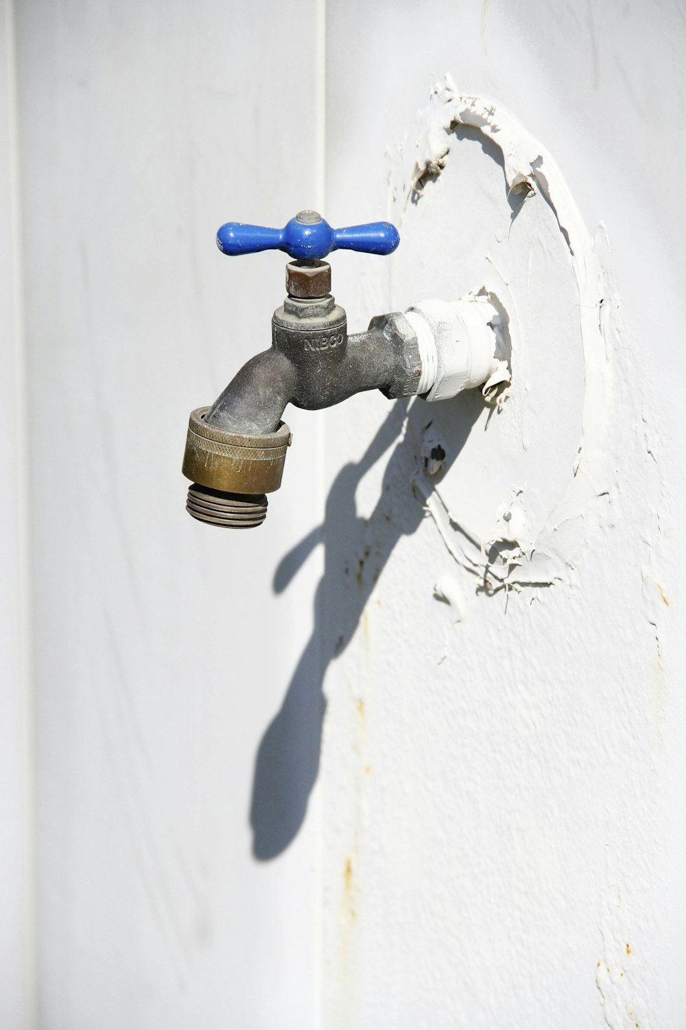
[[(323, 524), (312, 529), (277, 566), (274, 589), (280, 593), (314, 549), (324, 544), (313, 632), (255, 759), (250, 823), (253, 855), (260, 861), (280, 855), (304, 820), (319, 772), (326, 709), (322, 687), (328, 665), (350, 643), (396, 543), (413, 534), (424, 518), (423, 505), (411, 489), (424, 432), (434, 419), (440, 421), (444, 474), (483, 410), (483, 401), (470, 390), (450, 402), (440, 418), (437, 411), (434, 414), (438, 407), (446, 406), (429, 406), (422, 399), (395, 402), (363, 457), (344, 466), (333, 481)], [(365, 519), (357, 512), (355, 491), (394, 442), (378, 501)]]

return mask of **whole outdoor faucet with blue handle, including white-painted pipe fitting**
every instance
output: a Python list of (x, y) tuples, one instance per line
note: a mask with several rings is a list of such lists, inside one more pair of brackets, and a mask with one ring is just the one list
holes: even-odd
[(300, 211), (284, 229), (221, 227), (222, 253), (278, 249), (293, 260), (288, 296), (272, 318), (272, 346), (247, 362), (211, 407), (190, 414), (182, 472), (192, 481), (186, 510), (194, 518), (234, 528), (264, 521), (266, 494), (281, 485), (292, 439), (282, 421), (287, 404), (315, 411), (370, 389), (433, 401), (509, 379), (502, 311), (485, 293), (375, 315), (366, 333), (348, 335), (323, 259), (332, 250), (390, 254), (399, 243), (388, 221), (331, 229), (316, 211)]

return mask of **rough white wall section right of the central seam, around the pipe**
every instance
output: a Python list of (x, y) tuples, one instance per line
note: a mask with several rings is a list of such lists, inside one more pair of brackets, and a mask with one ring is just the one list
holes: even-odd
[[(420, 401), (403, 426), (371, 396), (328, 419), (325, 647), (342, 653), (325, 681), (323, 1025), (677, 1030), (683, 14), (353, 2), (328, 39), (329, 217), (401, 220), (383, 271), (334, 261), (352, 328), (485, 284), (514, 354), (490, 419), (478, 400)], [(454, 132), (412, 203), (414, 163), (444, 140), (429, 92), (446, 72), (504, 128)], [(575, 258), (541, 191), (511, 219), (501, 108), (557, 162), (561, 218), (587, 229)], [(411, 484), (432, 418), (449, 468), (438, 493), (419, 482), (445, 540)], [(458, 524), (499, 537), (513, 502), (537, 553), (510, 582), (552, 585), (483, 590), (447, 547), (478, 560)]]

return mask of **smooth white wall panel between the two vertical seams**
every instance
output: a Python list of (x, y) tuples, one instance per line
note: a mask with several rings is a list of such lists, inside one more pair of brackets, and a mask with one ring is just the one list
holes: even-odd
[[(316, 840), (278, 847), (275, 820), (302, 818), (288, 749), (250, 818), (311, 628), (315, 570), (272, 577), (317, 515), (317, 434), (251, 535), (190, 519), (180, 465), (189, 411), (268, 343), (283, 294), (283, 258), (230, 263), (217, 228), (318, 200), (317, 11), (30, 3), (16, 29), (39, 1025), (300, 1030)], [(297, 148), (292, 123), (313, 127)]]

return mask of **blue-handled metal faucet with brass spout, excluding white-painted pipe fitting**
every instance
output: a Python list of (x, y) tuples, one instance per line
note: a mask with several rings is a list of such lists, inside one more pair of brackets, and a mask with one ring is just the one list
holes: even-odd
[[(388, 356), (365, 356), (370, 334), (349, 339), (346, 312), (331, 296), (331, 268), (322, 261), (332, 250), (388, 254), (399, 242), (398, 231), (387, 221), (332, 229), (317, 211), (300, 211), (283, 229), (221, 227), (217, 245), (222, 253), (279, 249), (295, 260), (286, 266), (288, 296), (272, 319), (272, 348), (248, 362), (211, 407), (190, 414), (182, 472), (192, 480), (186, 510), (194, 518), (225, 526), (264, 520), (266, 494), (281, 485), (291, 442), (281, 421), (287, 404), (326, 408), (376, 386), (404, 396), (407, 373), (403, 366), (398, 385), (391, 348), (383, 348)], [(381, 332), (375, 340), (386, 344)], [(353, 341), (357, 345), (349, 346)], [(412, 342), (410, 378), (416, 373), (419, 381), (413, 337)]]

